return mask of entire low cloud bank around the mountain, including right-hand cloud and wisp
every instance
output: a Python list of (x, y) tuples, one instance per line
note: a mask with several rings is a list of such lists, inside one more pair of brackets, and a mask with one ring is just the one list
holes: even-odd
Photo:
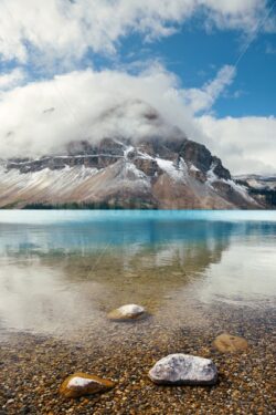
[[(105, 136), (174, 136), (180, 127), (201, 142), (232, 173), (275, 172), (276, 118), (197, 116), (230, 84), (234, 71), (223, 66), (216, 77), (193, 90), (203, 96), (188, 105), (178, 79), (160, 65), (132, 75), (123, 71), (75, 71), (32, 82), (0, 95), (0, 155), (38, 157), (62, 153), (72, 141)], [(156, 117), (156, 111), (160, 117)]]

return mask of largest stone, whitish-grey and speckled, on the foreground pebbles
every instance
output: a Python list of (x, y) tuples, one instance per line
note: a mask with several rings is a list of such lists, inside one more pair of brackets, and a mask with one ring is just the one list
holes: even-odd
[(149, 377), (160, 385), (214, 385), (217, 370), (209, 359), (178, 353), (158, 361)]

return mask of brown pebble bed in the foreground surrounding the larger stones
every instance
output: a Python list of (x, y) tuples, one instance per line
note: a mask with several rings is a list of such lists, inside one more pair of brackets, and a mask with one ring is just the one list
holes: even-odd
[[(209, 308), (208, 315), (205, 324), (179, 321), (172, 329), (155, 315), (131, 323), (106, 320), (99, 333), (86, 328), (74, 339), (2, 332), (0, 415), (276, 414), (273, 310), (223, 305)], [(212, 341), (223, 331), (244, 336), (250, 347), (234, 354), (215, 351)], [(219, 383), (151, 383), (148, 371), (156, 361), (179, 352), (212, 359)], [(113, 380), (116, 386), (104, 394), (64, 398), (59, 387), (74, 372)]]

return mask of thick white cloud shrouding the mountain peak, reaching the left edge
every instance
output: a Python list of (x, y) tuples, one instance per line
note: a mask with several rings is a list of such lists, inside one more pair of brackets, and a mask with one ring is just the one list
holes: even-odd
[[(35, 157), (62, 153), (72, 141), (162, 134), (178, 116), (189, 129), (192, 112), (181, 103), (176, 76), (161, 66), (137, 76), (87, 70), (29, 83), (0, 95), (0, 154)], [(145, 116), (152, 108), (163, 122)]]

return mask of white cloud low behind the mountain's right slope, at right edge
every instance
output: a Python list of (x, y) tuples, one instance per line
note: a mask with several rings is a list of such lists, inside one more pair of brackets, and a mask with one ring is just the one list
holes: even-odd
[(197, 122), (206, 144), (210, 143), (233, 173), (276, 173), (276, 117), (202, 116)]

